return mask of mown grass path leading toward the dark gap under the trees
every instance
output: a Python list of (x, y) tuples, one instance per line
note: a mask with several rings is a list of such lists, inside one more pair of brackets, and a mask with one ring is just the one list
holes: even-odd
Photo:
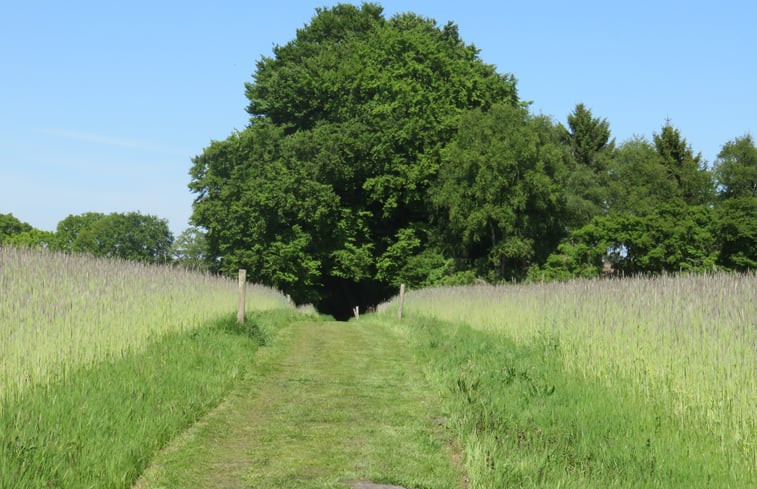
[(436, 394), (395, 330), (296, 323), (137, 483), (156, 488), (459, 488)]

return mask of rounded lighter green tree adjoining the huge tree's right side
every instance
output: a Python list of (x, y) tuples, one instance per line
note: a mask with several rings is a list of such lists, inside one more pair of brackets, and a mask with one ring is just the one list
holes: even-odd
[(476, 110), (443, 156), (433, 200), (453, 252), (494, 280), (522, 278), (546, 259), (565, 231), (568, 168), (551, 122), (510, 105)]

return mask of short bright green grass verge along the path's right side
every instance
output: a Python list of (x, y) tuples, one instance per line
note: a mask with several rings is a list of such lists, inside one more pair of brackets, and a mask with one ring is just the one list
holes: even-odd
[(462, 324), (396, 327), (444, 393), (471, 489), (757, 487), (755, 460), (706, 430), (566, 372), (557, 338), (522, 346)]

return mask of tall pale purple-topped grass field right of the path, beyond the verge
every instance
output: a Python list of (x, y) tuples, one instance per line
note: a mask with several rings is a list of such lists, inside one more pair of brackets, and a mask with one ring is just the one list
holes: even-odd
[[(411, 291), (404, 314), (529, 348), (554, 342), (567, 375), (604, 385), (617, 402), (641, 402), (702, 440), (687, 450), (716, 446), (718, 463), (754, 477), (756, 298), (754, 273), (658, 276)], [(384, 306), (395, 312), (396, 302)]]

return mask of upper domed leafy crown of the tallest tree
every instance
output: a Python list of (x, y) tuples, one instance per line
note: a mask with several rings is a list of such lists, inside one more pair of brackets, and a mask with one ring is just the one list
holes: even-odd
[(247, 94), (251, 114), (297, 137), (312, 132), (320, 148), (339, 148), (330, 140), (349, 135), (353, 151), (340, 165), (354, 171), (320, 181), (340, 195), (339, 184), (365, 192), (382, 217), (406, 224), (405, 210), (426, 214), (423, 192), (460, 114), (517, 95), (512, 78), (482, 63), (452, 26), (440, 30), (414, 14), (384, 21), (380, 12), (370, 4), (318, 10), (295, 40), (258, 64)]

